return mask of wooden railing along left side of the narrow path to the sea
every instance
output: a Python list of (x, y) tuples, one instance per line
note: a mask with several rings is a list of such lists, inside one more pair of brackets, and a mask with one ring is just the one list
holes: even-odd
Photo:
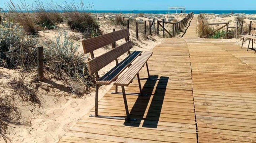
[[(188, 23), (188, 20), (190, 18), (192, 18), (194, 16), (194, 12), (189, 13), (185, 18), (183, 18), (181, 21), (173, 23), (173, 22), (167, 22), (164, 21), (164, 19), (162, 21), (158, 20), (157, 21), (157, 34), (159, 34), (159, 25), (163, 28), (163, 38), (165, 37), (165, 32), (167, 32), (170, 37), (175, 37), (176, 34), (179, 33), (179, 31), (181, 30), (182, 26), (185, 26)], [(161, 24), (162, 22), (162, 24)], [(164, 28), (164, 24), (172, 24), (172, 34), (166, 29)]]

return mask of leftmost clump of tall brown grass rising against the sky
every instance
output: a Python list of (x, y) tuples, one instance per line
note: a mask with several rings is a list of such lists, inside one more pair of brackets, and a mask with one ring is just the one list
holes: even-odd
[(12, 11), (11, 19), (14, 20), (14, 22), (19, 23), (23, 26), (23, 30), (28, 35), (36, 35), (37, 29), (35, 25), (35, 18), (31, 13), (29, 13), (29, 10), (27, 9), (26, 3), (21, 3), (20, 5), (14, 5), (12, 1), (10, 1), (10, 4), (7, 4), (9, 7), (9, 10)]

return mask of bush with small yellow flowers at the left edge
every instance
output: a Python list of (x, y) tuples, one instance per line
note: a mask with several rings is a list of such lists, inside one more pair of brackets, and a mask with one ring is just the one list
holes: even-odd
[(25, 35), (23, 30), (13, 21), (0, 25), (0, 66), (27, 70), (36, 66), (36, 40)]

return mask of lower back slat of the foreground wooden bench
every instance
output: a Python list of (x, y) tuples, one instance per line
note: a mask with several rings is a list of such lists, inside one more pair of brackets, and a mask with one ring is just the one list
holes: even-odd
[(132, 42), (128, 41), (115, 49), (112, 49), (99, 57), (96, 57), (87, 62), (89, 74), (92, 75), (108, 65), (109, 63), (113, 62), (115, 59), (123, 55), (125, 52), (132, 48)]

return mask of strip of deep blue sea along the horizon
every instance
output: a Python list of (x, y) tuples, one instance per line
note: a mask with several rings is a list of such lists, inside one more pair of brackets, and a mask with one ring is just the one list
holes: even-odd
[[(5, 12), (8, 12), (5, 10)], [(33, 12), (30, 10), (29, 12)], [(36, 12), (36, 11), (34, 11)], [(60, 10), (59, 12), (66, 12), (65, 10)], [(83, 11), (81, 11), (83, 12)], [(89, 12), (89, 11), (87, 11)], [(168, 10), (90, 10), (91, 13), (146, 13), (146, 14), (168, 14)], [(178, 9), (178, 13), (181, 12), (181, 9)], [(194, 14), (199, 13), (214, 13), (214, 14), (228, 14), (228, 13), (245, 13), (245, 14), (256, 14), (256, 10), (186, 10), (186, 13), (194, 12)], [(170, 10), (170, 13), (176, 13), (176, 10)]]

